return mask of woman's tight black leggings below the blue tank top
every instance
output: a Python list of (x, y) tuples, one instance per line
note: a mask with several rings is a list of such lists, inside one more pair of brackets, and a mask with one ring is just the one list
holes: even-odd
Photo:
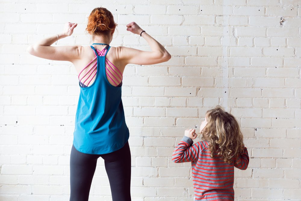
[(88, 201), (97, 159), (104, 159), (113, 201), (130, 201), (131, 152), (123, 148), (108, 154), (85, 154), (72, 146), (70, 155), (70, 201)]

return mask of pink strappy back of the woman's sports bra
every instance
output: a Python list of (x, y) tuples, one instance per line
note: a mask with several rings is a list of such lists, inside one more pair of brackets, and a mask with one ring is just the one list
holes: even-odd
[[(93, 43), (92, 45), (94, 45), (94, 44), (96, 44), (96, 45), (107, 45), (107, 44), (102, 44), (102, 43)], [(99, 51), (98, 49), (95, 49), (97, 51), (98, 55), (96, 55), (96, 52), (93, 51), (94, 54), (95, 54), (95, 58), (90, 63), (88, 63), (85, 66), (85, 68), (83, 68), (79, 72), (78, 79), (79, 79), (79, 84), (80, 84), (81, 87), (88, 87), (88, 86), (92, 85), (93, 82), (91, 83), (91, 81), (96, 76), (96, 73), (97, 73), (97, 70), (98, 70), (97, 69), (97, 56), (106, 55), (109, 47), (110, 46), (107, 45), (102, 51)], [(93, 49), (92, 46), (91, 46), (91, 48)], [(82, 71), (84, 71), (86, 68), (88, 68), (88, 66), (90, 66), (91, 68), (88, 71), (86, 71), (86, 73), (81, 77), (80, 75), (81, 75)], [(105, 68), (106, 68), (106, 75), (107, 75), (108, 81), (110, 80), (111, 81), (110, 83), (113, 86), (117, 86), (117, 87), (121, 86), (122, 85), (122, 78), (123, 78), (122, 73), (107, 58), (105, 58)], [(84, 81), (82, 82), (82, 80), (84, 80)]]

